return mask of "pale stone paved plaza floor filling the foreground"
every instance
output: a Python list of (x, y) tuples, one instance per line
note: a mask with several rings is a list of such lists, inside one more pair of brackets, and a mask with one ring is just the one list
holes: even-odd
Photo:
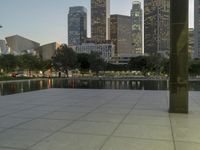
[(200, 150), (200, 92), (49, 89), (0, 97), (0, 150)]

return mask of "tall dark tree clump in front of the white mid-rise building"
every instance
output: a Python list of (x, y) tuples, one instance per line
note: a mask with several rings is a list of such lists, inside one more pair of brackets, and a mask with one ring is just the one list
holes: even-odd
[(57, 71), (65, 72), (68, 75), (69, 70), (79, 69), (82, 73), (89, 70), (95, 72), (105, 70), (105, 62), (98, 53), (76, 54), (72, 48), (62, 45), (52, 58), (53, 67)]

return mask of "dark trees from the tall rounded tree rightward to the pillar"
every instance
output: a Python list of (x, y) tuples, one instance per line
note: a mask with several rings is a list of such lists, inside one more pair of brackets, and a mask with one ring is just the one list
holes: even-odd
[(156, 74), (167, 74), (169, 71), (169, 60), (160, 56), (139, 56), (132, 58), (127, 65), (114, 65), (106, 63), (98, 53), (76, 54), (67, 45), (62, 45), (55, 57), (52, 59), (56, 70), (68, 72), (68, 70), (78, 68), (81, 72), (89, 70), (99, 71), (141, 71), (143, 75), (148, 72)]

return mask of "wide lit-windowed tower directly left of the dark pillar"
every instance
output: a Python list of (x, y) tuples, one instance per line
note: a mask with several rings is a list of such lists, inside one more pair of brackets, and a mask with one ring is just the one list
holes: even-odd
[(144, 0), (144, 52), (170, 51), (170, 0)]

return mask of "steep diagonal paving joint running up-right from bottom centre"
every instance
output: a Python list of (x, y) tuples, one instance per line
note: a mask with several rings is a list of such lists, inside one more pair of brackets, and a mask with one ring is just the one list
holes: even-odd
[(114, 133), (117, 131), (117, 129), (120, 127), (120, 125), (124, 122), (124, 120), (127, 118), (127, 116), (131, 113), (131, 111), (135, 108), (135, 106), (139, 103), (139, 101), (141, 100), (141, 98), (144, 96), (144, 92), (138, 97), (135, 105), (130, 109), (130, 111), (127, 113), (127, 115), (125, 115), (123, 117), (123, 119), (118, 123), (118, 125), (115, 127), (115, 129), (113, 130), (113, 132), (104, 140), (103, 144), (100, 146), (99, 150), (102, 150), (102, 148), (105, 146), (105, 144), (107, 143), (107, 141), (114, 135)]

